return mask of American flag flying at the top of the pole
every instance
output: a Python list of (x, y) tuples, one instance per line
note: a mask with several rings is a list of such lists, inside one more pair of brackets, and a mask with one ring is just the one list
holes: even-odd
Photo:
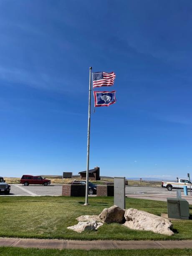
[(93, 72), (93, 88), (101, 86), (112, 86), (116, 75), (114, 72)]

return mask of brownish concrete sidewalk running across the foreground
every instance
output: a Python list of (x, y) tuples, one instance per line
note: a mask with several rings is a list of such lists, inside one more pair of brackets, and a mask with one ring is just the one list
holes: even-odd
[(173, 249), (192, 248), (192, 240), (182, 241), (117, 241), (117, 240), (59, 240), (0, 238), (0, 246), (41, 249)]

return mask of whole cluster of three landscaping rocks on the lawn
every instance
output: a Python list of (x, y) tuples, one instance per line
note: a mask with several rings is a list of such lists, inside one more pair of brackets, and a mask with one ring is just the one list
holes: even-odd
[(104, 223), (120, 223), (134, 230), (152, 231), (167, 236), (174, 235), (173, 225), (169, 220), (134, 208), (123, 210), (117, 205), (105, 208), (99, 215), (81, 215), (76, 220), (79, 221), (78, 224), (68, 229), (78, 233), (85, 230), (96, 231)]

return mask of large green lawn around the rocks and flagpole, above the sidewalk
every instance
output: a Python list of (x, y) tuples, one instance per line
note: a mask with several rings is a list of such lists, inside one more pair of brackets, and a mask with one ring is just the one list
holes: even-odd
[[(99, 214), (112, 206), (113, 197), (0, 197), (0, 236), (24, 238), (63, 239), (119, 239), (119, 240), (179, 240), (192, 239), (192, 221), (173, 221), (174, 236), (164, 236), (149, 231), (134, 231), (118, 223), (104, 224), (98, 231), (76, 233), (68, 226), (78, 223), (80, 215)], [(167, 213), (167, 203), (126, 198), (126, 208), (136, 208), (161, 215)], [(192, 214), (192, 206), (190, 206)]]

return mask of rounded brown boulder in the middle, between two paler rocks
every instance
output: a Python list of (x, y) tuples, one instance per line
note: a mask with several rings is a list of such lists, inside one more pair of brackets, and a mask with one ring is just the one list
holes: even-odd
[(110, 208), (105, 208), (100, 214), (99, 218), (105, 223), (123, 223), (125, 211), (119, 208), (117, 205), (113, 205)]

